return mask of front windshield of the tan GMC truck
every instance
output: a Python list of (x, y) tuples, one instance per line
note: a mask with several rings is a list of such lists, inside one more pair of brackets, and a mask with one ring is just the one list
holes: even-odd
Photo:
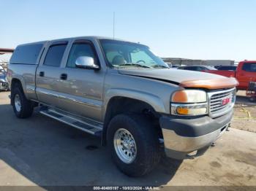
[(169, 68), (161, 58), (154, 55), (148, 47), (132, 42), (122, 42), (110, 39), (99, 40), (110, 66), (142, 67), (142, 68)]

